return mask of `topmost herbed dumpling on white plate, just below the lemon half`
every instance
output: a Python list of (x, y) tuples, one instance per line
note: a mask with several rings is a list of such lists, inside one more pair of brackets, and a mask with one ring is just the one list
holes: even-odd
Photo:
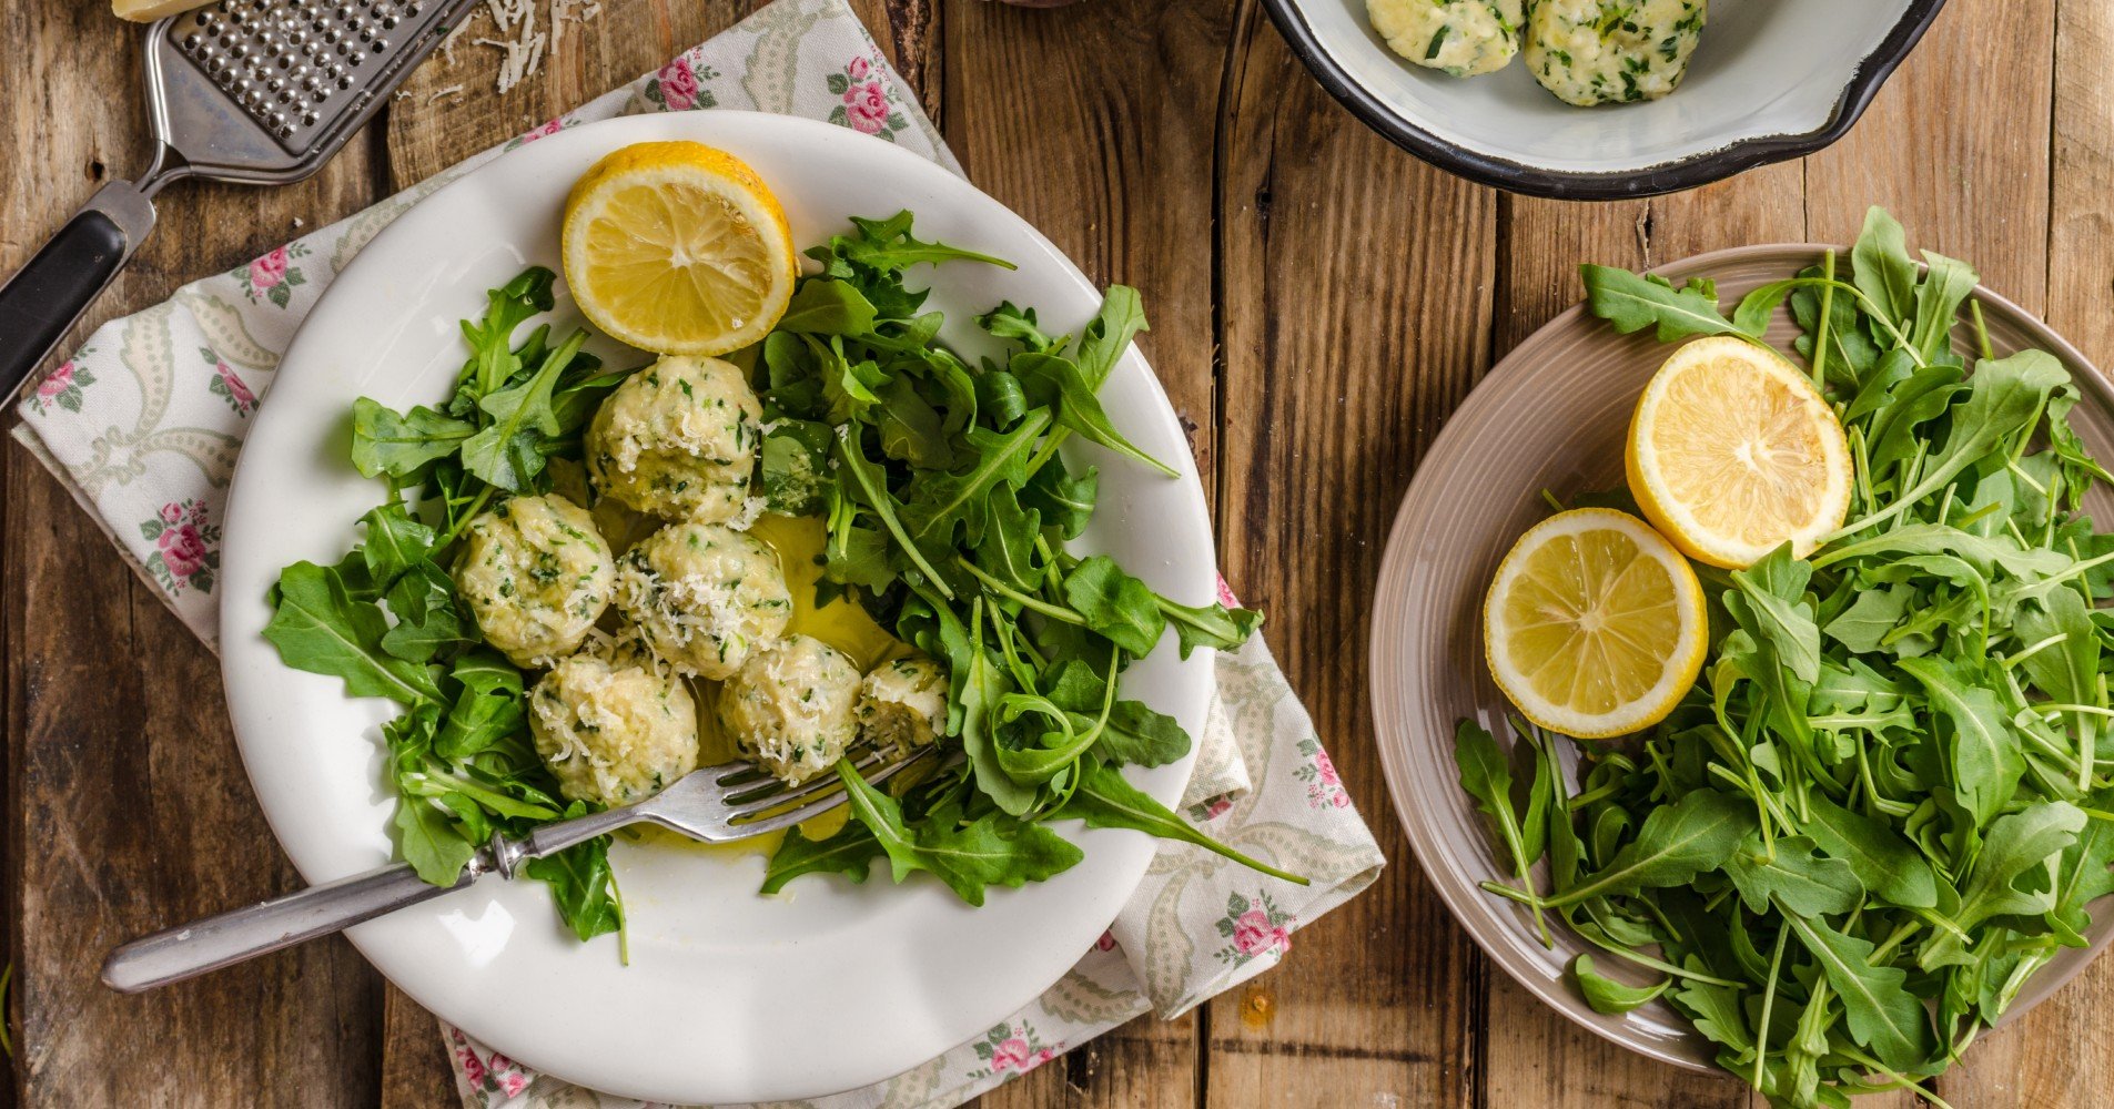
[(664, 357), (594, 412), (588, 475), (598, 494), (662, 520), (734, 520), (748, 505), (761, 422), (738, 365)]

